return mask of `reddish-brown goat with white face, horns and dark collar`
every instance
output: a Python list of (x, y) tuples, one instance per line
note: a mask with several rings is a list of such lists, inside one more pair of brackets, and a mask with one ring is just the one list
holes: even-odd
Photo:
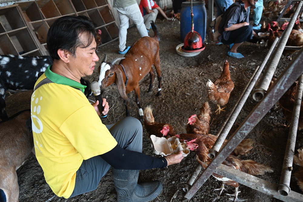
[[(98, 68), (98, 84), (100, 85), (101, 91), (107, 86), (116, 83), (118, 92), (124, 100), (126, 116), (129, 116), (128, 97), (126, 94), (135, 91), (141, 121), (143, 121), (143, 110), (140, 103), (139, 81), (149, 73), (150, 84), (148, 92), (151, 92), (155, 78), (152, 65), (155, 66), (159, 82), (157, 96), (161, 95), (158, 30), (153, 21), (151, 21), (151, 27), (155, 34), (154, 37), (146, 36), (140, 38), (131, 46), (125, 58), (116, 58), (107, 63), (107, 55), (104, 54), (104, 59)], [(115, 64), (118, 60), (121, 60), (119, 65)]]

